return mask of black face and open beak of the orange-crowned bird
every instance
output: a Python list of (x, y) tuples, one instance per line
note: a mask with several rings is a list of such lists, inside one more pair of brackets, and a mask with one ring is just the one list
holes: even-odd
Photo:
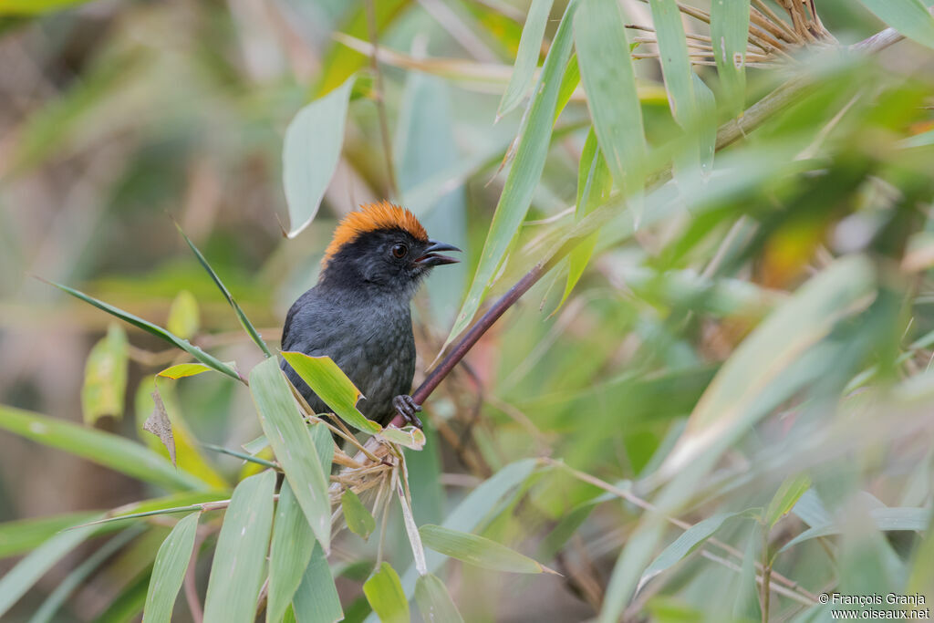
[(460, 248), (436, 240), (418, 240), (402, 229), (365, 232), (334, 253), (321, 278), (329, 284), (369, 284), (412, 296), (432, 267), (460, 262), (441, 251)]

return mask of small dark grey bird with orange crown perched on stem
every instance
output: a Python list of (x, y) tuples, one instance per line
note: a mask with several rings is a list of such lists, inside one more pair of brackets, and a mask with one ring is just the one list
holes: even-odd
[[(416, 347), (411, 302), (434, 266), (460, 251), (432, 240), (416, 216), (388, 201), (364, 204), (338, 223), (314, 288), (291, 305), (282, 350), (328, 356), (361, 391), (361, 413), (382, 426), (396, 413), (421, 428), (409, 391)], [(331, 409), (291, 368), (282, 370), (315, 413)]]

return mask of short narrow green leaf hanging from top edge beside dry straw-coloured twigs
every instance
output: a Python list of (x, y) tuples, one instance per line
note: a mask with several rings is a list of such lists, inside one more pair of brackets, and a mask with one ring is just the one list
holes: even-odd
[(714, 42), (716, 71), (726, 105), (740, 114), (746, 90), (746, 39), (749, 37), (749, 0), (713, 0), (710, 35)]

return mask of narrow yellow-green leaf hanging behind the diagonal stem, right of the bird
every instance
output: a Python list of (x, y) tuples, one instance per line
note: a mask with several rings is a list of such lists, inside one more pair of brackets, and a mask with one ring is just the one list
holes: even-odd
[[(613, 177), (597, 145), (597, 135), (594, 134), (591, 126), (590, 131), (587, 132), (587, 140), (584, 143), (584, 151), (581, 153), (577, 169), (577, 204), (574, 208), (574, 219), (577, 221), (583, 219), (595, 207), (606, 202), (612, 189)], [(593, 255), (593, 249), (597, 246), (598, 235), (599, 232), (594, 232), (587, 236), (587, 239), (573, 248), (568, 256), (568, 281), (564, 286), (564, 294), (558, 304), (559, 307), (567, 301), (577, 281), (584, 274), (584, 269), (590, 262), (590, 256)]]

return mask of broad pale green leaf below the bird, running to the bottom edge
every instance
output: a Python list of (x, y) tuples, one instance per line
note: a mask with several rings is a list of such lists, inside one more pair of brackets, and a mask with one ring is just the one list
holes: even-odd
[(266, 471), (233, 489), (207, 581), (205, 621), (252, 623), (256, 617), (275, 487), (276, 473)]

